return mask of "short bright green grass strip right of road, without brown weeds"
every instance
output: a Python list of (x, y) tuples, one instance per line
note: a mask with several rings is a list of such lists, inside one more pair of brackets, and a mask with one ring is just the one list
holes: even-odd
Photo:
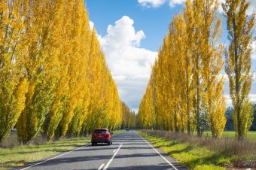
[(164, 138), (146, 135), (139, 132), (154, 147), (159, 148), (163, 153), (172, 156), (181, 165), (190, 169), (225, 169), (224, 165), (232, 164), (236, 157), (225, 157), (216, 150), (210, 150), (207, 147), (192, 146), (178, 141), (167, 141)]

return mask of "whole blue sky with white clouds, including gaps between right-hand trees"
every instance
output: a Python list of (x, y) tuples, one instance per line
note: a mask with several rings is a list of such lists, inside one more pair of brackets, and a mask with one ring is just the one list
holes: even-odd
[[(224, 0), (219, 0), (224, 2)], [(120, 99), (138, 111), (145, 93), (151, 66), (168, 32), (174, 14), (183, 11), (185, 0), (84, 0), (90, 26), (96, 28), (108, 68), (117, 83)], [(248, 14), (256, 11), (252, 1)], [(219, 8), (222, 15), (222, 9)], [(228, 45), (226, 20), (221, 42)], [(255, 32), (256, 35), (256, 32)], [(256, 71), (256, 43), (252, 44), (251, 71)], [(225, 76), (225, 72), (221, 71)], [(224, 83), (227, 105), (231, 105), (228, 80)], [(256, 102), (256, 74), (251, 87), (251, 101)]]

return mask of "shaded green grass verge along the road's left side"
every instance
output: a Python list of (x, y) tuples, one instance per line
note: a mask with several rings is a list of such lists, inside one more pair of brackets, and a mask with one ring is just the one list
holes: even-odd
[[(114, 131), (113, 135), (123, 132)], [(90, 135), (84, 138), (69, 138), (66, 140), (53, 141), (47, 144), (23, 145), (13, 148), (0, 148), (0, 169), (15, 168), (82, 147), (90, 143)]]

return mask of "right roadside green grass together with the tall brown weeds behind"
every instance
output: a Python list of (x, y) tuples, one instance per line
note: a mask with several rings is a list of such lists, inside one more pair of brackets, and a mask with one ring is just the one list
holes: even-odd
[(256, 168), (256, 143), (252, 141), (158, 130), (141, 130), (140, 134), (190, 169)]

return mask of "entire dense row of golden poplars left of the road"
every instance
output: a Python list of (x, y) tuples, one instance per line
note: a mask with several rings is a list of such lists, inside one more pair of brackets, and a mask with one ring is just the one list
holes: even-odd
[(120, 128), (122, 104), (84, 0), (0, 1), (0, 142)]

